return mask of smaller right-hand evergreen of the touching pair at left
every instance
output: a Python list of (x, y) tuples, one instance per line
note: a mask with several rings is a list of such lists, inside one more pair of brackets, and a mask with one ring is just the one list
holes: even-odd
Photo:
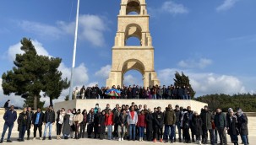
[(50, 105), (53, 106), (52, 99), (58, 99), (63, 89), (68, 89), (68, 78), (62, 79), (62, 74), (57, 70), (62, 59), (53, 58), (49, 59), (49, 71), (44, 76), (43, 83), (45, 85), (45, 95), (50, 98)]

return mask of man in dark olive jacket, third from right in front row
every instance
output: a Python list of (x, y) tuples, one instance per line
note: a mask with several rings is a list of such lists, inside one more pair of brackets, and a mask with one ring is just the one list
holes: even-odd
[(220, 145), (227, 144), (226, 142), (226, 115), (221, 112), (221, 109), (216, 109), (215, 114), (215, 128), (220, 136)]

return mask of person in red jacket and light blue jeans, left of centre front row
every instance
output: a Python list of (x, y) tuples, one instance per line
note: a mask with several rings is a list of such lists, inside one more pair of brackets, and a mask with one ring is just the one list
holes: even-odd
[(106, 110), (105, 124), (107, 128), (107, 138), (112, 140), (113, 113), (112, 110)]

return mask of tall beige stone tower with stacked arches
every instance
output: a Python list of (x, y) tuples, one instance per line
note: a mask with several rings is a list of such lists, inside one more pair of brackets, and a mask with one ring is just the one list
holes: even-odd
[[(144, 87), (160, 84), (154, 68), (154, 47), (149, 29), (150, 16), (145, 0), (122, 0), (117, 16), (117, 35), (112, 47), (112, 70), (106, 86), (123, 85), (123, 76), (137, 70), (143, 76)], [(136, 37), (139, 46), (127, 46), (127, 40)]]

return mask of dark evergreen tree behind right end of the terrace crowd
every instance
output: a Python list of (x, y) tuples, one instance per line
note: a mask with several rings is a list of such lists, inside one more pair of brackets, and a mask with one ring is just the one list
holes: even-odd
[(180, 74), (178, 72), (175, 73), (175, 78), (173, 78), (174, 80), (174, 85), (175, 86), (179, 86), (179, 87), (183, 87), (183, 86), (186, 86), (186, 87), (189, 87), (189, 92), (190, 92), (190, 95), (191, 95), (191, 98), (193, 99), (194, 97), (194, 94), (196, 92), (193, 91), (193, 88), (189, 82), (189, 78), (188, 76), (186, 76), (184, 73)]

